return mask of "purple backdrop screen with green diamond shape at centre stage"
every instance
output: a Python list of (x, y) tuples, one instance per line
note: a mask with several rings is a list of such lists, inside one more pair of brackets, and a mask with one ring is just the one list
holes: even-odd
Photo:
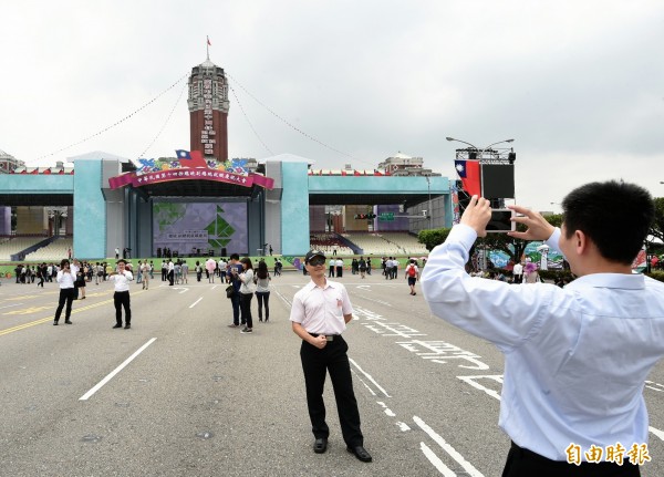
[(169, 248), (179, 256), (196, 249), (215, 256), (247, 253), (246, 203), (166, 203), (153, 205), (154, 250)]

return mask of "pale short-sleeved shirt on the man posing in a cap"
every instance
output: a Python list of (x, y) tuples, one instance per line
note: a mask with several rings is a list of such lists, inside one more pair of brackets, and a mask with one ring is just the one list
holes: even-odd
[(326, 280), (321, 288), (310, 281), (293, 297), (290, 321), (309, 333), (341, 334), (346, 328), (344, 314), (353, 314), (353, 305), (343, 284)]

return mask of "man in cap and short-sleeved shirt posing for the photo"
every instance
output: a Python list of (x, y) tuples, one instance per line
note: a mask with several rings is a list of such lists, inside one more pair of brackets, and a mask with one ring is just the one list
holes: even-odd
[(310, 250), (304, 266), (311, 281), (293, 297), (290, 321), (293, 332), (302, 340), (300, 360), (307, 388), (307, 407), (314, 436), (313, 452), (328, 449), (330, 428), (325, 423), (323, 387), (329, 372), (346, 449), (357, 459), (370, 463), (364, 448), (360, 411), (353, 391), (349, 362), (349, 345), (342, 338), (353, 319), (353, 307), (345, 287), (325, 278), (325, 255)]

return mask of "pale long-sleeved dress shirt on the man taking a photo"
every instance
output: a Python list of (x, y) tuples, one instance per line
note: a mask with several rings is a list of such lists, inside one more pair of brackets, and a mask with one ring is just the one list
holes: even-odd
[[(664, 283), (594, 273), (559, 288), (469, 277), (477, 235), (454, 226), (422, 273), (432, 312), (505, 354), (500, 427), (554, 460), (566, 448), (647, 443), (644, 381), (664, 355)], [(559, 250), (560, 230), (547, 240)]]

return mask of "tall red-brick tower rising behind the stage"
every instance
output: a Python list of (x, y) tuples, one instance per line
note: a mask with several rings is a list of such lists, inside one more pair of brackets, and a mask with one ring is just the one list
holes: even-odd
[(209, 59), (189, 76), (190, 151), (205, 158), (228, 159), (228, 81), (224, 69)]

